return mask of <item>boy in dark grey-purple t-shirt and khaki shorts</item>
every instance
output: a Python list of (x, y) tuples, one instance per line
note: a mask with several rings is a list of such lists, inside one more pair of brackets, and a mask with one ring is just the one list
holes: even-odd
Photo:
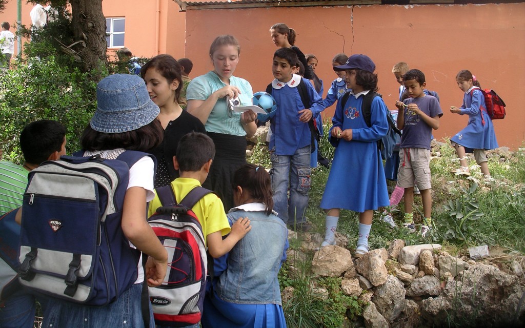
[(417, 184), (423, 200), (423, 236), (432, 228), (430, 213), (430, 140), (432, 129), (439, 128), (439, 118), (443, 111), (439, 101), (425, 94), (425, 75), (418, 69), (411, 69), (403, 75), (403, 83), (410, 98), (397, 101), (399, 110), (397, 128), (403, 130), (400, 151), (401, 163), (397, 174), (397, 185), (405, 188), (405, 224), (409, 230), (415, 230), (412, 207), (414, 186)]

